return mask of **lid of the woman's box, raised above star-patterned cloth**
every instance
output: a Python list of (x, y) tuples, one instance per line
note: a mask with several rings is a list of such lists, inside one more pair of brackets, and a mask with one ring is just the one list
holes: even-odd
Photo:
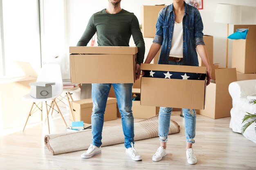
[(206, 74), (206, 67), (187, 65), (167, 65), (167, 64), (141, 64), (141, 70), (169, 71), (169, 72), (190, 72)]

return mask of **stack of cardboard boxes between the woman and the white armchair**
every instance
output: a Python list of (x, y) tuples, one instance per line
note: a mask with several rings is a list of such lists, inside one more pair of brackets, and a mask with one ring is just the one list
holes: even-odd
[[(207, 86), (205, 96), (204, 110), (196, 112), (209, 118), (225, 118), (230, 116), (232, 108), (232, 98), (229, 95), (229, 84), (236, 81), (236, 68), (218, 68), (218, 65), (213, 65), (213, 36), (204, 35), (205, 48), (211, 64), (212, 81)], [(204, 66), (198, 54), (200, 66)]]

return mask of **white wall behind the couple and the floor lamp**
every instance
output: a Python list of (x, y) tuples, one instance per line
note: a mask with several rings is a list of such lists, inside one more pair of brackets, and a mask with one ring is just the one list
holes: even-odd
[[(156, 3), (157, 2), (157, 3)], [(166, 4), (169, 5), (172, 0), (122, 0), (121, 7), (127, 11), (135, 13), (141, 23), (141, 6)], [(256, 24), (255, 8), (256, 0), (203, 0), (203, 9), (200, 9), (202, 20), (204, 23), (204, 34), (213, 35), (213, 63), (219, 63), (221, 66), (226, 65), (226, 37), (227, 24), (215, 23), (214, 13), (217, 3), (237, 4), (249, 6), (244, 8), (245, 16), (251, 16), (251, 19), (244, 20), (242, 24)], [(108, 0), (67, 0), (67, 46), (76, 46), (76, 43), (83, 34), (88, 20), (93, 13), (101, 11), (108, 7)], [(229, 26), (229, 33), (233, 33), (233, 26)], [(145, 39), (147, 55), (151, 39)], [(89, 43), (90, 44), (90, 43)], [(89, 45), (88, 44), (88, 45)], [(132, 41), (130, 44), (133, 45)], [(231, 67), (232, 41), (229, 40), (229, 67)]]

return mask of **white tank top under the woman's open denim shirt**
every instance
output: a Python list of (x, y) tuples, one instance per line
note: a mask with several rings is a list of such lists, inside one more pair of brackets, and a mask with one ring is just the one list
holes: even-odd
[(173, 39), (171, 42), (171, 50), (169, 57), (183, 58), (183, 25), (174, 23)]

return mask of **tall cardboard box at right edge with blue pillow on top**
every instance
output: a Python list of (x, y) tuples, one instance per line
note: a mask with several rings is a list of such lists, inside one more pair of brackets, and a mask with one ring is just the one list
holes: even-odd
[(241, 73), (256, 73), (256, 25), (234, 25), (248, 28), (246, 39), (233, 39), (232, 68)]

